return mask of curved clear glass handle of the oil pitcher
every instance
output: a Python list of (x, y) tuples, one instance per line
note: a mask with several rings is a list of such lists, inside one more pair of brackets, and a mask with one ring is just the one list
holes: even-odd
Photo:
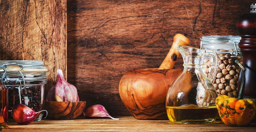
[(211, 61), (211, 70), (208, 78), (213, 83), (216, 77), (216, 73), (219, 67), (218, 54), (214, 50), (205, 50), (204, 59), (209, 59)]

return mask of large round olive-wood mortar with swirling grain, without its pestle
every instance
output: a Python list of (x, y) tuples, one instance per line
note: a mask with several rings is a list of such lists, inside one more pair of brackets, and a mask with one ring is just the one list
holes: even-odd
[(122, 102), (136, 119), (168, 119), (165, 99), (169, 87), (182, 69), (134, 69), (119, 82)]

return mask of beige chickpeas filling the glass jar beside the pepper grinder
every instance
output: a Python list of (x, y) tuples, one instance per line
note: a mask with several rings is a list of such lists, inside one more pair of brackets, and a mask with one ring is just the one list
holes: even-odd
[[(240, 67), (235, 63), (236, 59), (238, 58), (231, 57), (231, 54), (218, 55), (219, 67), (216, 72), (216, 78), (213, 80), (213, 87), (216, 89), (218, 96), (238, 96), (237, 83), (240, 74)], [(239, 61), (241, 62), (242, 59)], [(209, 73), (211, 73), (211, 64), (211, 60), (204, 59), (203, 72), (206, 76), (209, 76)], [(207, 104), (209, 104), (209, 100), (210, 99), (207, 98), (204, 100), (204, 102), (207, 102)]]

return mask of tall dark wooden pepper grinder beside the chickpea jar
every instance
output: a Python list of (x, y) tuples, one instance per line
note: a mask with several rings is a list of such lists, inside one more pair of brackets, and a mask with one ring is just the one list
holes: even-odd
[[(236, 23), (238, 34), (242, 37), (238, 44), (243, 54), (245, 67), (245, 98), (256, 99), (256, 3), (251, 4), (250, 13), (241, 15)], [(241, 72), (242, 73), (242, 72)], [(242, 77), (238, 79), (238, 90)]]

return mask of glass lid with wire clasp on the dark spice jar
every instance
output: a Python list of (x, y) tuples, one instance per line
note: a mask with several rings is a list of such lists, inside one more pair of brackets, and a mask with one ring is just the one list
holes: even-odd
[(46, 71), (43, 61), (0, 61), (0, 79), (6, 86), (46, 84)]

